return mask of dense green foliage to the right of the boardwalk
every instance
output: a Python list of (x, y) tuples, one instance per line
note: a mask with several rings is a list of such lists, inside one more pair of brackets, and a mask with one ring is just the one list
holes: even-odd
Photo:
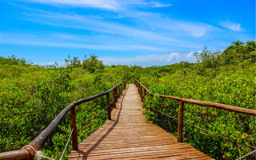
[[(255, 65), (254, 56), (249, 54), (254, 52), (254, 45), (255, 42), (234, 42), (223, 53), (204, 48), (202, 53), (195, 53), (198, 63), (148, 67), (139, 80), (153, 93), (255, 110)], [(228, 62), (226, 58), (230, 58)], [(153, 74), (156, 70), (161, 76)], [(148, 120), (177, 136), (178, 121), (155, 110), (149, 111), (149, 103), (154, 109), (178, 118), (178, 102), (156, 94), (144, 103)], [(254, 116), (186, 103), (184, 121), (216, 133), (187, 124), (183, 128), (184, 141), (213, 158), (235, 159), (255, 150), (251, 147), (256, 145)], [(254, 155), (247, 159), (254, 159)]]

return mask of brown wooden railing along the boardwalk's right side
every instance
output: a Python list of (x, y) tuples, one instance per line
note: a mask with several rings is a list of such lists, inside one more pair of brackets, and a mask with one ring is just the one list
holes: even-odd
[[(146, 86), (143, 86), (141, 82), (138, 80), (134, 79), (134, 83), (138, 88), (138, 93), (140, 94), (141, 101), (143, 101), (144, 98), (146, 98), (146, 93), (149, 94), (149, 101), (150, 98), (154, 95), (153, 93), (150, 92), (146, 88)], [(254, 115), (256, 116), (256, 110), (250, 110), (246, 108), (241, 108), (238, 106), (230, 106), (230, 105), (225, 105), (221, 103), (216, 103), (216, 102), (204, 102), (204, 101), (197, 101), (194, 99), (188, 99), (188, 98), (178, 98), (170, 95), (163, 95), (163, 94), (158, 94), (159, 97), (161, 98), (170, 98), (170, 99), (175, 99), (179, 101), (179, 110), (178, 110), (178, 142), (182, 142), (182, 129), (183, 129), (183, 109), (184, 109), (184, 103), (191, 103), (199, 106), (211, 106), (214, 108), (218, 109), (224, 109), (224, 110), (230, 110), (234, 112), (238, 112), (241, 114), (249, 114), (249, 115)], [(149, 106), (149, 110), (152, 110), (151, 106)]]

